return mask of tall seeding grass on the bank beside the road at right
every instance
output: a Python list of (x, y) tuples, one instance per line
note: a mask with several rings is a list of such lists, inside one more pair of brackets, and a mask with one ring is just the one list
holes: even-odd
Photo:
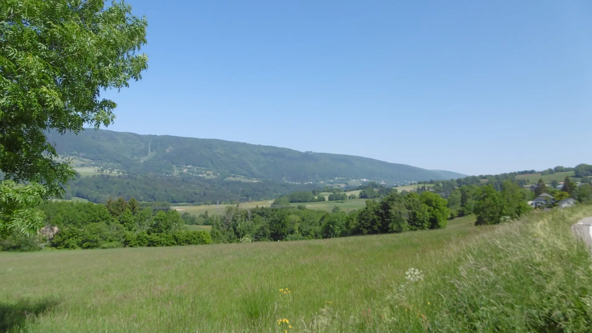
[(570, 230), (590, 215), (533, 213), (456, 242), (358, 315), (324, 309), (308, 331), (590, 332), (592, 261)]

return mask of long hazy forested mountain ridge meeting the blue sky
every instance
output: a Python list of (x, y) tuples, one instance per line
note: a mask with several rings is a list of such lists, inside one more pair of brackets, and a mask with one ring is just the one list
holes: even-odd
[[(440, 171), (394, 164), (360, 156), (299, 152), (218, 139), (138, 135), (86, 129), (78, 135), (48, 133), (60, 155), (115, 164), (130, 174), (168, 174), (193, 165), (227, 174), (273, 181), (318, 182), (336, 177), (387, 182), (450, 179)], [(458, 174), (459, 177), (462, 176)]]

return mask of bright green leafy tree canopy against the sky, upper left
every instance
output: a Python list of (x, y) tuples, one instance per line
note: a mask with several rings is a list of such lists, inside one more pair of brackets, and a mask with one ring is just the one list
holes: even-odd
[(0, 171), (4, 180), (44, 185), (39, 197), (60, 196), (75, 172), (54, 160), (46, 134), (112, 123), (117, 104), (100, 91), (141, 78), (146, 19), (104, 0), (8, 0), (0, 17)]

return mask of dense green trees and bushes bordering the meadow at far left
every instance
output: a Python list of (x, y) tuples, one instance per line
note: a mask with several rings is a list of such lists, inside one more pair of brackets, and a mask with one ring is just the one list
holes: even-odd
[(0, 243), (4, 251), (117, 248), (209, 244), (205, 231), (189, 231), (176, 210), (141, 209), (120, 198), (107, 204), (49, 201), (40, 207), (45, 227), (36, 236), (12, 235)]

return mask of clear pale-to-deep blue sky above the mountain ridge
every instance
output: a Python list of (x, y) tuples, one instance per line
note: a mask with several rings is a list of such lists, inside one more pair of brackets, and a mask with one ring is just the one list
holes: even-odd
[(497, 174), (592, 164), (589, 1), (156, 1), (108, 129)]

